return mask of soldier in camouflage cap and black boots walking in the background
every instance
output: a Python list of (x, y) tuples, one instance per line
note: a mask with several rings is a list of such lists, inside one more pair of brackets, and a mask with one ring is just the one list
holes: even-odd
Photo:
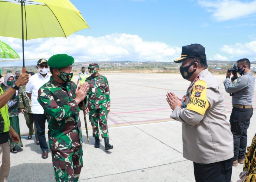
[(104, 138), (105, 150), (113, 148), (113, 145), (109, 144), (109, 131), (108, 131), (108, 113), (110, 112), (110, 92), (109, 83), (105, 76), (99, 74), (99, 65), (97, 63), (91, 63), (88, 67), (91, 76), (86, 78), (86, 82), (90, 85), (90, 89), (87, 93), (88, 107), (86, 112), (89, 112), (89, 120), (93, 127), (93, 136), (95, 138), (95, 148), (100, 147), (99, 140), (99, 125), (101, 136)]

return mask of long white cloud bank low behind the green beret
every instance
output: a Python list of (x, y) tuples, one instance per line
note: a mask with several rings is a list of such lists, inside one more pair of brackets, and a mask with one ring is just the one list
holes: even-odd
[[(1, 37), (22, 58), (22, 40)], [(76, 61), (172, 61), (181, 48), (163, 42), (144, 41), (138, 35), (113, 33), (102, 37), (71, 35), (66, 38), (32, 39), (25, 42), (25, 58), (66, 53)]]

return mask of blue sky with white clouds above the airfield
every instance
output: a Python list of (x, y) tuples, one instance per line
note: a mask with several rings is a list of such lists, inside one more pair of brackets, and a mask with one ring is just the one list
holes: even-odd
[[(256, 61), (256, 0), (71, 0), (91, 29), (25, 42), (25, 57), (172, 61), (200, 43), (208, 60)], [(22, 56), (20, 39), (0, 37)]]

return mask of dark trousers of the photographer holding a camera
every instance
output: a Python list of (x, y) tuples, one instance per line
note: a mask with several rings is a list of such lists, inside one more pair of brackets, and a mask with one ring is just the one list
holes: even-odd
[(232, 109), (229, 122), (234, 139), (233, 161), (236, 161), (238, 158), (244, 158), (247, 146), (247, 129), (250, 125), (252, 115), (253, 108), (245, 109), (234, 107)]

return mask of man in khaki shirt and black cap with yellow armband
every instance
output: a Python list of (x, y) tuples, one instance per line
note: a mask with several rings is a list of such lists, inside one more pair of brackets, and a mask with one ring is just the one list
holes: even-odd
[(182, 123), (183, 156), (193, 161), (196, 181), (230, 182), (233, 136), (226, 120), (224, 95), (207, 69), (204, 47), (185, 45), (181, 58), (174, 62), (182, 62), (181, 75), (191, 82), (182, 99), (167, 93), (173, 110), (170, 117)]

